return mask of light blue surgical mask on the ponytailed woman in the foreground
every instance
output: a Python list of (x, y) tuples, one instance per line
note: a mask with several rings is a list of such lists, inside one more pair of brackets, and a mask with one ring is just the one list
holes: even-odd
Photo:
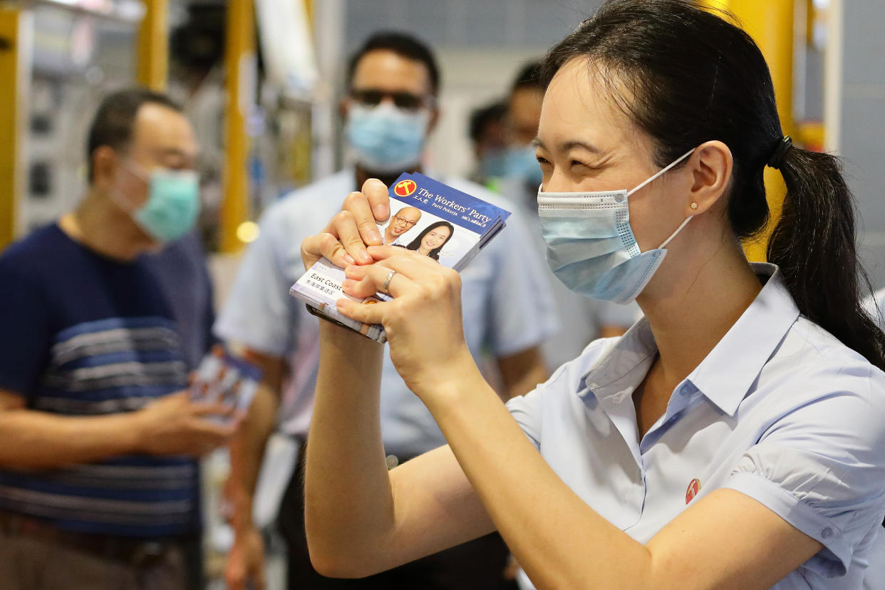
[(630, 227), (630, 195), (689, 157), (679, 157), (633, 190), (545, 193), (538, 189), (541, 234), (547, 264), (575, 293), (613, 303), (630, 303), (664, 262), (666, 245), (689, 218), (656, 249), (645, 252)]

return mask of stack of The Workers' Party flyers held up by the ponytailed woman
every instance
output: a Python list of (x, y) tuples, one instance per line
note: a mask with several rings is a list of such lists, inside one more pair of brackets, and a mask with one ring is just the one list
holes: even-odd
[[(390, 218), (379, 224), (384, 243), (415, 250), (456, 271), (464, 268), (510, 217), (509, 211), (418, 172), (402, 174), (389, 188), (389, 195)], [(343, 280), (344, 269), (321, 258), (292, 285), (289, 295), (307, 303), (312, 313), (350, 327), (373, 341), (386, 341), (382, 326), (345, 318), (335, 307), (335, 301), (348, 298), (372, 304), (389, 300), (389, 295), (351, 297), (341, 290)]]

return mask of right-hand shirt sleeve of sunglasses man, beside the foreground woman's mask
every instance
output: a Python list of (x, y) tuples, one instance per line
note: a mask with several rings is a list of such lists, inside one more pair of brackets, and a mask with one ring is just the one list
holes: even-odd
[(489, 248), (495, 246), (495, 276), (489, 292), (489, 338), (495, 356), (539, 346), (559, 322), (541, 254), (518, 211)]

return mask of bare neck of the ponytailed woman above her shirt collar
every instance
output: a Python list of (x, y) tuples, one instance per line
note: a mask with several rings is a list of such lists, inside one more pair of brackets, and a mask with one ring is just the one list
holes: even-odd
[[(658, 344), (655, 370), (667, 391), (694, 371), (762, 289), (740, 244), (703, 218), (686, 227), (693, 249), (666, 257), (636, 300)], [(717, 234), (719, 239), (702, 239)]]

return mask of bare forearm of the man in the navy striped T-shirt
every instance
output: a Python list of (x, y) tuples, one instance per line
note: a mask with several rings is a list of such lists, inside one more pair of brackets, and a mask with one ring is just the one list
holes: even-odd
[(35, 410), (0, 411), (0, 466), (53, 469), (142, 450), (139, 412), (57, 416)]

